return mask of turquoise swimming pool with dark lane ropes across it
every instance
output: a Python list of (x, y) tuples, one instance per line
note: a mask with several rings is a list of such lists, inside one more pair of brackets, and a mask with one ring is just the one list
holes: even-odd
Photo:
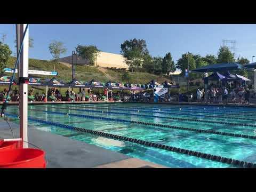
[[(241, 162), (256, 163), (254, 108), (142, 103), (28, 108), (29, 124), (39, 130), (168, 167), (239, 167)], [(18, 110), (17, 106), (9, 106), (6, 114), (15, 116)], [(67, 129), (70, 127), (87, 132)], [(207, 154), (212, 160), (207, 159)], [(219, 162), (218, 157), (227, 159)], [(239, 162), (229, 164), (229, 159)]]

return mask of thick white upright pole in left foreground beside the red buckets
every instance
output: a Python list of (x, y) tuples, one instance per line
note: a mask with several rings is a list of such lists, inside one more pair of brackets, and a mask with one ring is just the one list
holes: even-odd
[[(25, 32), (27, 24), (17, 24), (16, 25), (16, 34), (17, 34), (17, 50), (20, 47), (23, 34)], [(20, 55), (20, 61), (18, 65), (19, 77), (28, 77), (28, 41), (29, 41), (29, 30), (24, 38), (23, 47), (21, 47), (22, 52)], [(17, 52), (18, 55), (18, 52)], [(28, 84), (21, 83), (19, 84), (20, 92), (20, 138), (23, 141), (28, 141)], [(28, 143), (23, 142), (23, 148), (28, 148)]]

